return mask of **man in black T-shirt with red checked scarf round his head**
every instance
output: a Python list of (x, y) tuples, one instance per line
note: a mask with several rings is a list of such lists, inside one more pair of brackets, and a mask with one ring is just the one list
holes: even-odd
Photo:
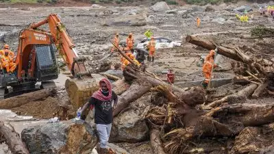
[(110, 81), (101, 79), (99, 81), (100, 89), (94, 92), (86, 103), (82, 112), (91, 106), (91, 110), (95, 107), (95, 124), (100, 140), (99, 154), (105, 154), (108, 138), (110, 138), (110, 130), (112, 127), (112, 101), (114, 101), (114, 109), (117, 105), (117, 95), (112, 91)]

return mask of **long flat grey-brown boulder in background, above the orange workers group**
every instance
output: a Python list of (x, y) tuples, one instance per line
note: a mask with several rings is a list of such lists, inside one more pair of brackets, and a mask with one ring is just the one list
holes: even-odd
[(117, 16), (116, 18), (110, 18), (103, 26), (145, 26), (147, 25), (146, 16), (145, 15), (123, 15)]

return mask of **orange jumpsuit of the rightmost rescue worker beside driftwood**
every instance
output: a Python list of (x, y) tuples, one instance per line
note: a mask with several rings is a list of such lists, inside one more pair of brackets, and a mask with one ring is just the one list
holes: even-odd
[[(214, 64), (214, 59), (213, 59), (214, 51), (210, 51), (210, 54), (206, 56), (205, 63), (203, 64), (203, 75), (205, 77), (205, 83), (208, 84), (210, 81), (211, 73), (212, 73), (212, 64)], [(214, 68), (217, 65), (214, 64)]]

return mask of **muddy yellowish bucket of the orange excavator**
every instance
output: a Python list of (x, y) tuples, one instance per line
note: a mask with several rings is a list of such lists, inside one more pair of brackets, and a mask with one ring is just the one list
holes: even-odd
[(82, 79), (66, 79), (66, 92), (69, 94), (69, 101), (75, 109), (82, 107), (93, 92), (99, 90), (99, 81), (105, 77), (92, 74), (92, 77), (83, 77)]

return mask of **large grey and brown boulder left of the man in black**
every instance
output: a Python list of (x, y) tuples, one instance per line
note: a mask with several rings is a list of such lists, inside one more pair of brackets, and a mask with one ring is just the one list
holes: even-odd
[(98, 140), (95, 129), (82, 120), (47, 123), (23, 129), (29, 153), (91, 153)]

